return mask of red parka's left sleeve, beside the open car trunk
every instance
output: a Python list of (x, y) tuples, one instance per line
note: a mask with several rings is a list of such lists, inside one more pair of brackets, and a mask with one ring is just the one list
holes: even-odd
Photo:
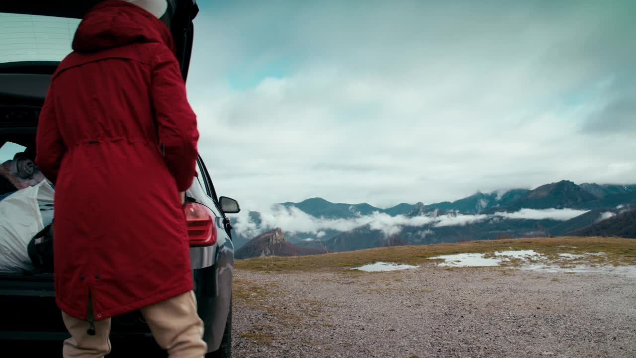
[(66, 153), (66, 145), (62, 141), (57, 118), (55, 118), (55, 106), (53, 104), (53, 85), (48, 89), (44, 106), (38, 118), (36, 132), (36, 165), (50, 180), (53, 185), (57, 182), (57, 174), (60, 171), (62, 158)]

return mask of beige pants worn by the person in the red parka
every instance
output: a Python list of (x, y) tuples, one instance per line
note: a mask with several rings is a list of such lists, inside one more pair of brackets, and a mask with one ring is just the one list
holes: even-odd
[[(89, 313), (90, 313), (89, 308)], [(170, 358), (203, 358), (207, 345), (203, 341), (203, 322), (197, 315), (194, 292), (186, 292), (166, 301), (141, 308), (153, 337)], [(92, 313), (90, 313), (92, 315)], [(89, 316), (90, 317), (90, 316)], [(62, 312), (71, 338), (64, 341), (64, 358), (100, 358), (109, 354), (111, 319), (95, 321), (95, 336), (86, 331), (90, 324)]]

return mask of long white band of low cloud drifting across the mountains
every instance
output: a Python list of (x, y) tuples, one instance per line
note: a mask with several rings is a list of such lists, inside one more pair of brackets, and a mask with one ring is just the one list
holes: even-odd
[[(382, 231), (386, 236), (399, 234), (405, 226), (465, 226), (485, 220), (529, 219), (529, 220), (569, 220), (586, 213), (587, 210), (574, 209), (522, 209), (513, 213), (498, 212), (494, 214), (461, 214), (446, 213), (438, 215), (437, 211), (425, 216), (407, 217), (396, 215), (392, 217), (386, 213), (375, 211), (370, 215), (358, 215), (354, 218), (325, 218), (314, 217), (293, 206), (274, 205), (268, 210), (260, 211), (261, 222), (256, 223), (245, 211), (237, 217), (235, 231), (242, 236), (251, 238), (265, 231), (280, 227), (287, 233), (313, 234), (317, 238), (325, 236), (326, 230), (350, 231), (361, 226), (369, 226), (372, 230)], [(426, 231), (431, 234), (430, 231)]]

